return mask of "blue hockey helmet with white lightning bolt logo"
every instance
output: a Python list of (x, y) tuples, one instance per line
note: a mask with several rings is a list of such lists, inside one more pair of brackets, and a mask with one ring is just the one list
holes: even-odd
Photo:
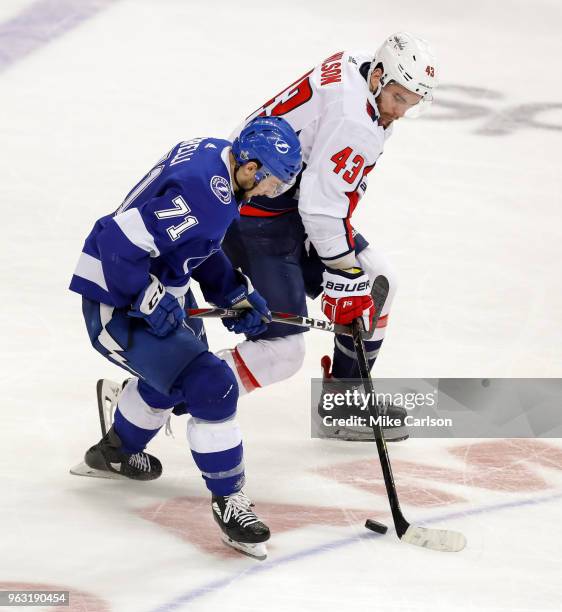
[(252, 119), (234, 139), (232, 154), (240, 165), (251, 160), (261, 164), (256, 173), (258, 182), (272, 174), (291, 184), (302, 169), (299, 137), (282, 117)]

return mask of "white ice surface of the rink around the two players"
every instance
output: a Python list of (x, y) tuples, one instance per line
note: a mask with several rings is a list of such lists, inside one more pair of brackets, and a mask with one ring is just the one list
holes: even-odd
[[(32, 4), (2, 3), (0, 25)], [(533, 486), (494, 464), (483, 487), (466, 457), (449, 452), (478, 441), (395, 445), (399, 489), (461, 500), (403, 502), (405, 514), (462, 531), (468, 547), (443, 555), (371, 535), (362, 510), (388, 520), (384, 495), (361, 488), (364, 475), (343, 483), (319, 470), (363, 462), (380, 483), (374, 448), (309, 439), (310, 378), (331, 343), (320, 333), (307, 334), (290, 383), (240, 403), (258, 511), (301, 506), (290, 529), (274, 531), (267, 562), (180, 537), (181, 504), (175, 531), (135, 513), (205, 498), (185, 417), (175, 440), (151, 445), (165, 465), (159, 481), (69, 476), (98, 436), (95, 380), (122, 375), (90, 348), (79, 298), (66, 290), (95, 219), (174, 143), (226, 136), (335, 50), (374, 49), (409, 29), (433, 43), (441, 100), (457, 106), (397, 124), (354, 217), (400, 277), (376, 373), (562, 376), (561, 21), (554, 0), (122, 0), (0, 73), (0, 587), (65, 586), (72, 610), (96, 612), (561, 608), (560, 456), (546, 468), (523, 449), (516, 463), (535, 474)], [(558, 107), (529, 125), (528, 105), (544, 104)], [(468, 110), (473, 118), (458, 118)], [(220, 324), (207, 328), (213, 348), (233, 343)], [(466, 482), (411, 476), (406, 462), (457, 470)], [(347, 519), (316, 520), (318, 507)], [(212, 534), (207, 506), (200, 520)]]

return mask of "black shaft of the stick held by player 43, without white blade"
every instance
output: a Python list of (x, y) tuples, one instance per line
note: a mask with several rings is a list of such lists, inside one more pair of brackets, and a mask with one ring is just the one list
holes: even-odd
[[(378, 282), (377, 282), (378, 281)], [(378, 289), (378, 291), (377, 291)], [(377, 277), (373, 284), (373, 299), (375, 301), (375, 318), (373, 320), (373, 327), (376, 326), (378, 318), (380, 316), (382, 307), (388, 295), (388, 280), (385, 277)], [(378, 302), (378, 303), (377, 303)], [(384, 484), (386, 487), (386, 494), (390, 503), (390, 509), (392, 511), (392, 519), (394, 520), (394, 526), (396, 533), (401, 538), (406, 530), (410, 526), (408, 521), (404, 518), (402, 510), (400, 509), (400, 503), (398, 501), (398, 494), (396, 492), (396, 485), (394, 484), (394, 478), (392, 476), (392, 468), (390, 466), (390, 458), (388, 456), (388, 449), (386, 448), (386, 442), (382, 433), (382, 428), (378, 424), (379, 411), (377, 409), (375, 401), (375, 390), (373, 388), (373, 381), (371, 379), (371, 372), (369, 368), (369, 361), (365, 351), (365, 344), (363, 342), (363, 325), (361, 319), (356, 319), (352, 326), (353, 332), (353, 344), (355, 352), (357, 354), (357, 361), (359, 364), (359, 372), (363, 379), (363, 386), (367, 397), (369, 397), (369, 416), (371, 420), (371, 427), (375, 434), (375, 441), (377, 444), (377, 451), (379, 453), (379, 460), (381, 464), (382, 474), (384, 477)]]

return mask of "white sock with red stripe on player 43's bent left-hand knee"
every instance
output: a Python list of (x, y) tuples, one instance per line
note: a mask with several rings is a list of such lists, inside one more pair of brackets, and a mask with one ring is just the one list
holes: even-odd
[(246, 340), (219, 356), (232, 368), (240, 394), (290, 378), (304, 361), (304, 334)]

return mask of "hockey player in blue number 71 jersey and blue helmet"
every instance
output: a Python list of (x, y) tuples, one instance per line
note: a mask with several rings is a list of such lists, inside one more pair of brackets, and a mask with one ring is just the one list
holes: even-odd
[[(238, 384), (209, 352), (202, 324), (185, 318), (192, 280), (217, 306), (244, 308), (224, 319), (251, 337), (271, 315), (248, 278), (221, 250), (239, 203), (274, 195), (301, 169), (297, 135), (281, 118), (252, 121), (231, 144), (196, 138), (176, 145), (133, 188), (116, 212), (90, 232), (70, 289), (94, 348), (133, 375), (114, 423), (85, 455), (88, 475), (158, 478), (160, 461), (145, 452), (173, 407), (190, 413), (187, 439), (212, 493), (225, 541), (263, 557), (269, 529), (242, 492), (242, 438), (235, 420)], [(194, 304), (193, 304), (194, 305)]]

